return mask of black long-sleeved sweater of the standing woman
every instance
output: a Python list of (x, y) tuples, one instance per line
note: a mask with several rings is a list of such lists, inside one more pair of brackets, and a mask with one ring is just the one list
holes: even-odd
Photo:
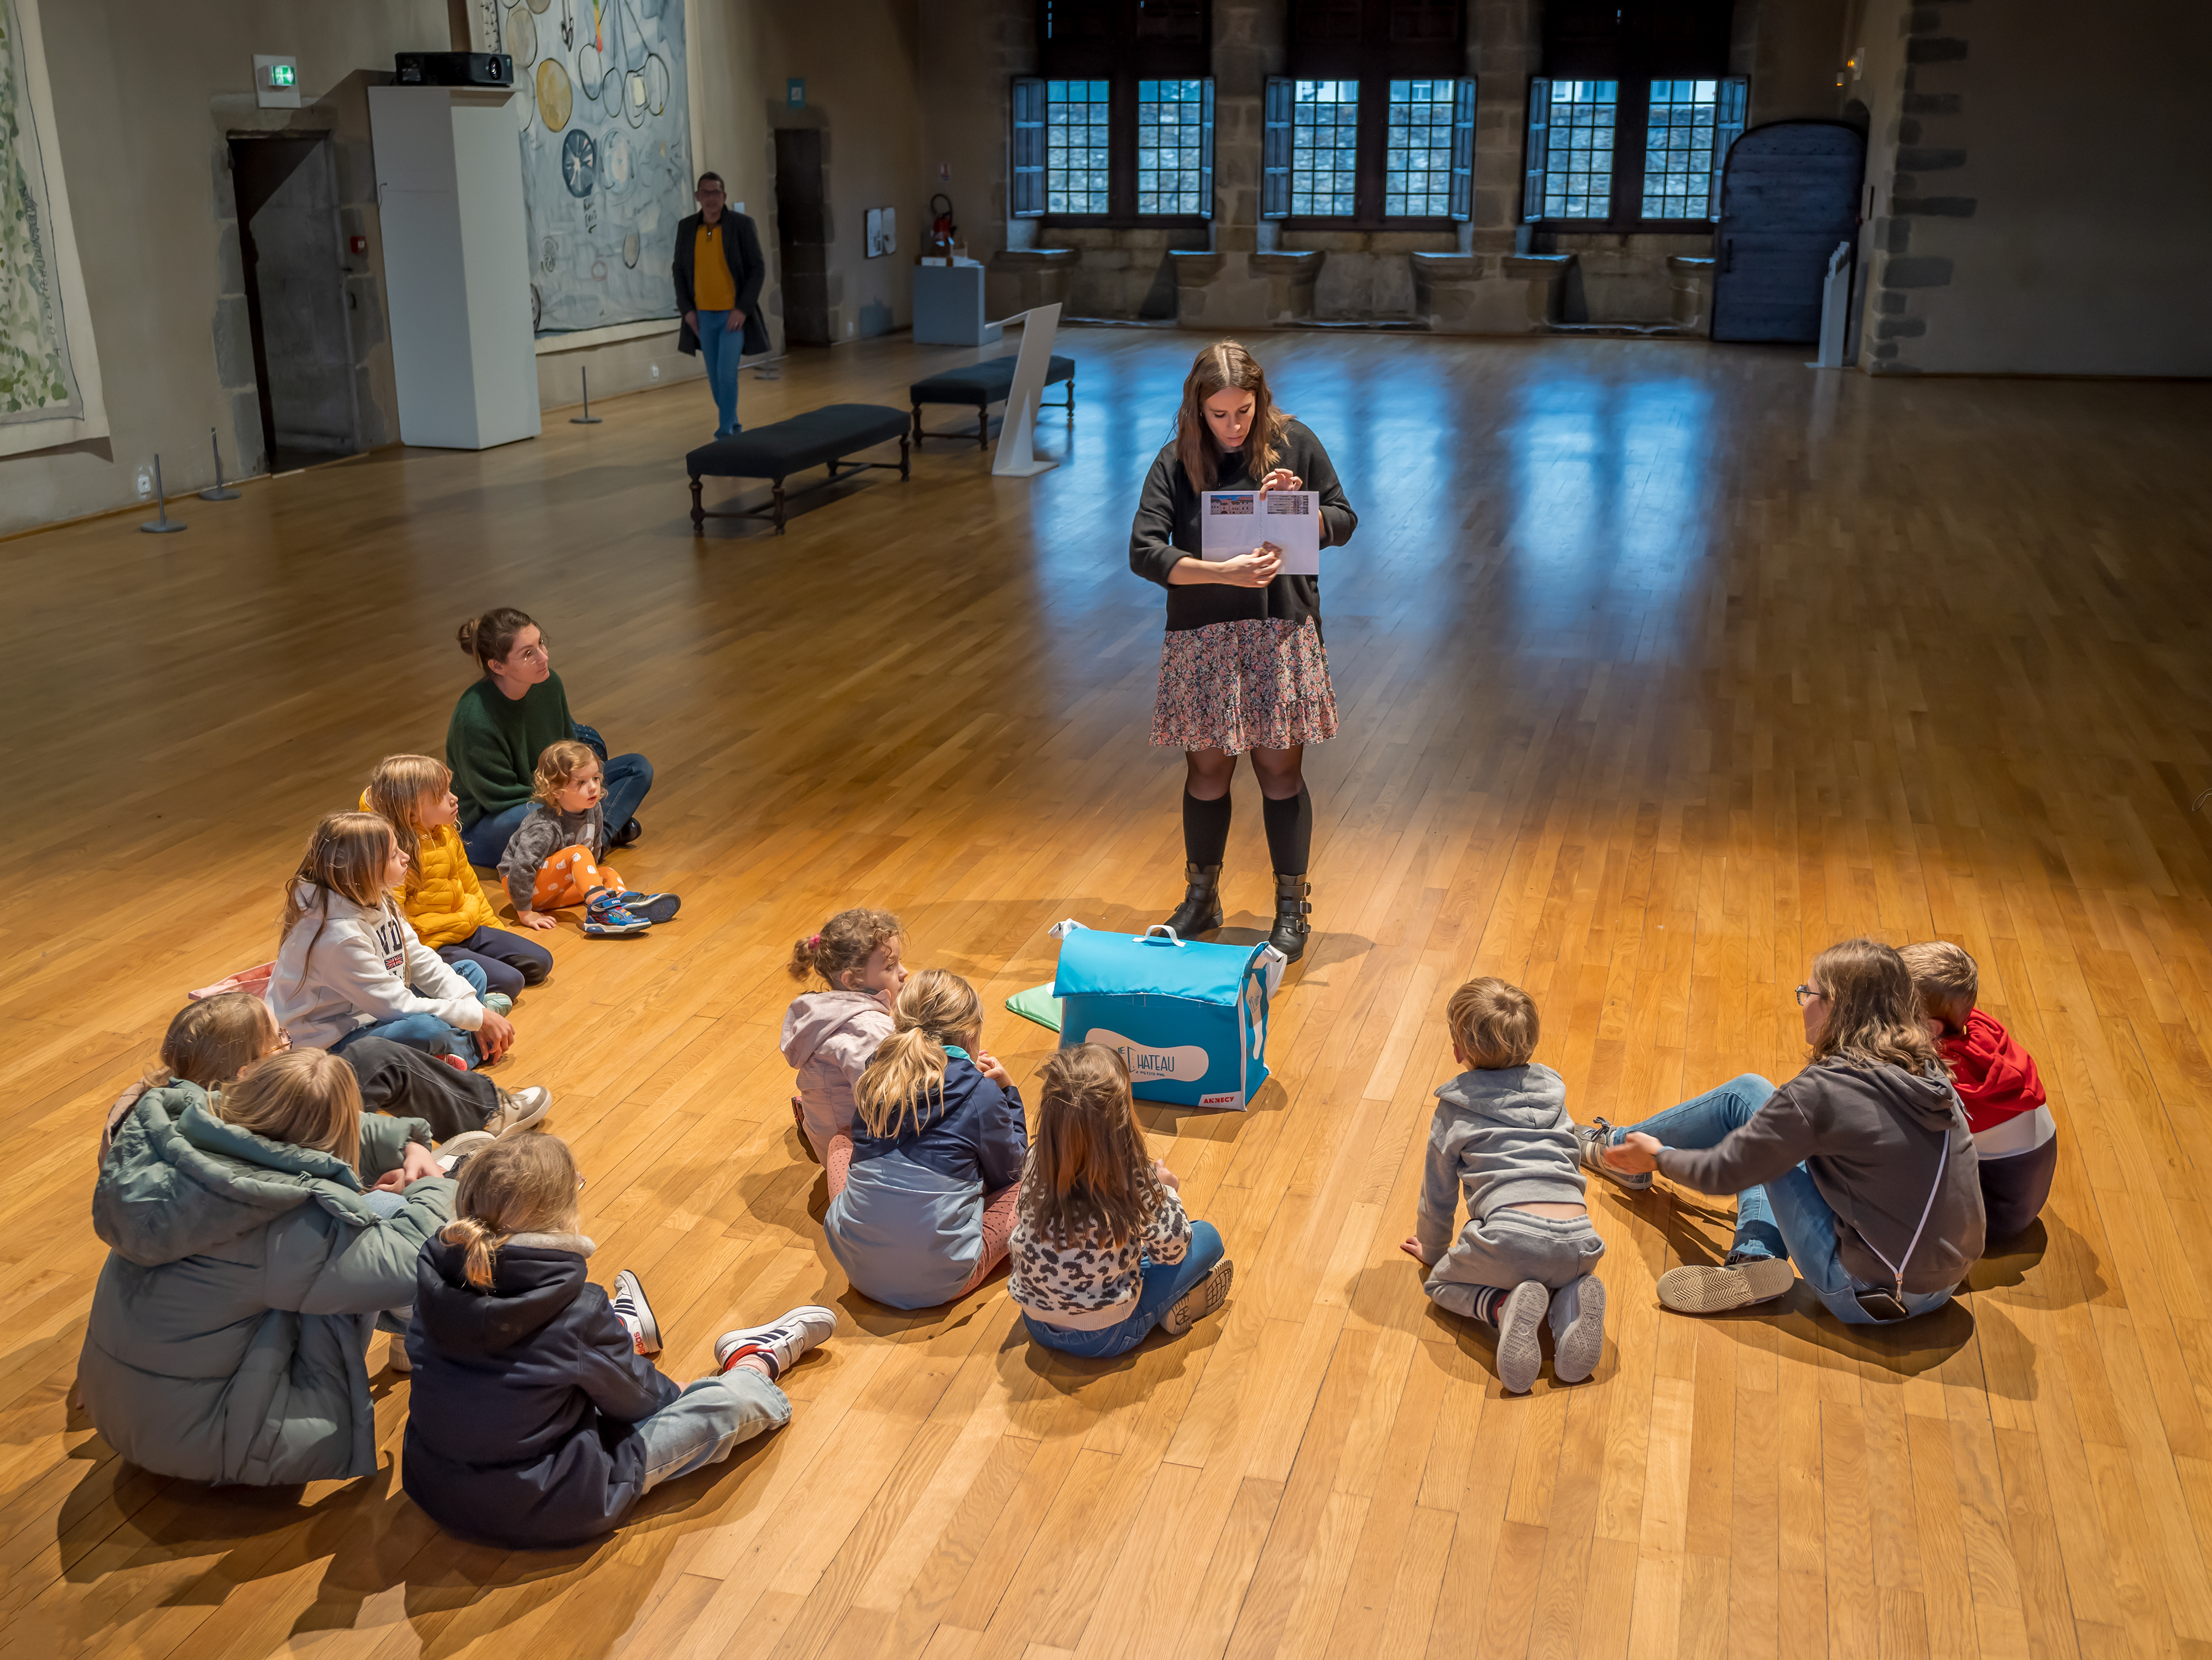
[[(1294, 420), (1283, 429), (1274, 464), (1287, 466), (1305, 480), (1305, 488), (1321, 495), (1321, 546), (1345, 546), (1360, 519), (1345, 500), (1345, 486), (1336, 482), (1329, 451), (1305, 429), (1305, 422)], [(1221, 458), (1221, 475), (1212, 488), (1259, 488), (1259, 480), (1245, 464), (1245, 451)], [(1290, 621), (1312, 617), (1314, 626), (1321, 626), (1318, 577), (1276, 577), (1265, 588), (1232, 588), (1223, 581), (1170, 586), (1168, 572), (1175, 570), (1175, 561), (1201, 557), (1201, 546), (1199, 488), (1177, 460), (1175, 444), (1168, 444), (1152, 458), (1152, 471), (1144, 477), (1144, 495), (1137, 500), (1137, 522), (1128, 533), (1128, 568), (1168, 590), (1168, 632), (1261, 617)]]

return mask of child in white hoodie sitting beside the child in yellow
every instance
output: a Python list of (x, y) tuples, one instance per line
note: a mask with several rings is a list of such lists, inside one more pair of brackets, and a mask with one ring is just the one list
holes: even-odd
[(285, 889), (270, 1015), (303, 1050), (383, 1037), (465, 1068), (500, 1059), (515, 1028), (484, 1004), (482, 968), (449, 968), (416, 939), (392, 897), (405, 882), (407, 853), (376, 813), (316, 824)]

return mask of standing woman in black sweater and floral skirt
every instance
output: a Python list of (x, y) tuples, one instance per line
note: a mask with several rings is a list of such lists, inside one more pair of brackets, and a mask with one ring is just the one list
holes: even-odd
[(1358, 515), (1327, 451), (1274, 407), (1252, 354), (1221, 340), (1190, 365), (1175, 442), (1152, 460), (1128, 535), (1128, 568), (1168, 590), (1152, 743), (1183, 752), (1188, 860), (1183, 902), (1168, 926), (1186, 937), (1221, 926), (1230, 778), (1237, 756), (1250, 749), (1274, 864), (1267, 942), (1292, 962), (1305, 955), (1314, 911), (1305, 880), (1314, 847), (1305, 745), (1336, 736), (1336, 694), (1321, 645), (1321, 579), (1281, 575), (1281, 548), (1272, 542), (1234, 559), (1201, 559), (1199, 497), (1307, 488), (1321, 495), (1321, 546), (1340, 548)]

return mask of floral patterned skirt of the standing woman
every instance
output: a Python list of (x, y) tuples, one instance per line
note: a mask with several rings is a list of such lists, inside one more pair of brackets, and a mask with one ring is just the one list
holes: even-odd
[(1334, 736), (1329, 652), (1312, 617), (1179, 628), (1161, 645), (1152, 743), (1241, 756)]

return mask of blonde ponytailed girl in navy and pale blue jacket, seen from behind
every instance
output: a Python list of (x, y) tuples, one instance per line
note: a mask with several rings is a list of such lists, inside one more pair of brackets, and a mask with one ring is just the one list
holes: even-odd
[(1029, 1125), (980, 1037), (982, 1001), (960, 975), (907, 979), (854, 1090), (849, 1152), (830, 1141), (830, 1251), (854, 1291), (894, 1309), (964, 1297), (1006, 1258)]

